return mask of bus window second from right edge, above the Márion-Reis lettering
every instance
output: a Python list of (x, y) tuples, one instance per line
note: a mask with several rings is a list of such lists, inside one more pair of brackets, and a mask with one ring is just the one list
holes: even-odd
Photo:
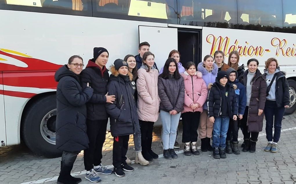
[[(271, 4), (272, 6), (267, 6)], [(282, 28), (282, 2), (270, 0), (237, 1), (238, 24), (262, 27)], [(248, 29), (250, 26), (247, 26)], [(243, 26), (242, 26), (243, 28)]]

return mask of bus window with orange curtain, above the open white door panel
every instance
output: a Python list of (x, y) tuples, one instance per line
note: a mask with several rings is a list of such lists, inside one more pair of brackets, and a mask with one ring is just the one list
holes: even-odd
[(97, 17), (175, 23), (176, 0), (93, 0)]

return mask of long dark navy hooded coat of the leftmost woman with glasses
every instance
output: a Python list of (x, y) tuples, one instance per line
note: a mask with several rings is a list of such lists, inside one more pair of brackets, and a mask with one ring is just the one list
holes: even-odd
[(81, 88), (78, 75), (65, 64), (54, 75), (57, 85), (56, 146), (67, 152), (80, 152), (89, 147), (86, 134), (86, 102), (93, 89)]

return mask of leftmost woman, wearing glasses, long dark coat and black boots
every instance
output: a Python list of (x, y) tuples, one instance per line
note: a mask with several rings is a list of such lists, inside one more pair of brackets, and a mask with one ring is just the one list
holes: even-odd
[(56, 146), (62, 150), (61, 171), (58, 183), (78, 183), (80, 178), (70, 175), (75, 159), (81, 150), (89, 147), (86, 134), (86, 102), (93, 94), (93, 89), (82, 88), (79, 74), (82, 71), (83, 59), (71, 56), (54, 75), (57, 85), (57, 120)]

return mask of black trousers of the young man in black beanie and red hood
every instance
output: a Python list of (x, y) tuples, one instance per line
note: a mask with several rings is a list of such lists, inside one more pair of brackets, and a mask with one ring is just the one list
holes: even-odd
[(89, 137), (89, 148), (84, 150), (84, 168), (89, 171), (94, 165), (100, 165), (103, 144), (106, 139), (107, 120), (86, 120), (87, 135)]

